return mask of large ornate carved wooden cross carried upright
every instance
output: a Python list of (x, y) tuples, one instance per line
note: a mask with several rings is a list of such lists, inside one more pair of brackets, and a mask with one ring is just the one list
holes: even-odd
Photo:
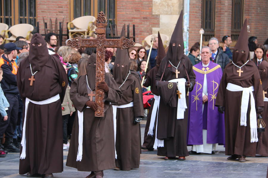
[[(134, 46), (134, 42), (130, 39), (121, 37), (120, 39), (106, 39), (106, 26), (107, 20), (105, 14), (101, 11), (96, 19), (96, 39), (84, 39), (79, 37), (72, 38), (67, 42), (68, 46), (74, 48), (81, 47), (96, 47), (97, 48), (97, 59), (96, 59), (96, 86), (99, 82), (104, 81), (105, 67), (105, 48), (120, 48), (126, 49)], [(96, 87), (96, 103), (98, 104), (98, 109), (95, 111), (95, 117), (104, 116), (104, 91)]]

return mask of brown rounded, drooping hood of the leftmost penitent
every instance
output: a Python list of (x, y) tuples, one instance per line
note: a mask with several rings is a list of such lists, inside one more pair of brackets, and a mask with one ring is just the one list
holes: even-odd
[[(41, 46), (38, 46), (42, 44)], [(46, 47), (46, 41), (42, 35), (35, 33), (32, 36), (29, 50), (29, 62), (32, 66), (32, 72), (40, 71), (49, 60), (49, 53)]]

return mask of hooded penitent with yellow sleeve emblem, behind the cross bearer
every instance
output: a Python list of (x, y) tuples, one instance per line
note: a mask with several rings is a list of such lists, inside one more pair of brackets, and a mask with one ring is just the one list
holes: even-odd
[(113, 76), (123, 94), (121, 100), (112, 105), (133, 102), (133, 107), (116, 109), (116, 167), (129, 171), (138, 168), (140, 164), (141, 135), (139, 123), (134, 122), (134, 119), (144, 117), (144, 111), (141, 82), (129, 74), (127, 49), (117, 50)]

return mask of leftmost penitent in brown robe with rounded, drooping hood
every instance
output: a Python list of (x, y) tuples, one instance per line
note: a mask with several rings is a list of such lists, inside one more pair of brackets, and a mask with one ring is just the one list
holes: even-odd
[[(32, 73), (34, 81), (30, 86)], [(17, 74), (21, 97), (43, 101), (57, 94), (60, 99), (50, 104), (28, 105), (25, 138), (26, 156), (20, 160), (19, 174), (47, 174), (63, 171), (63, 127), (61, 103), (68, 85), (60, 61), (48, 54), (46, 42), (36, 33), (32, 36), (29, 57), (21, 61)], [(25, 106), (24, 106), (25, 107)], [(25, 113), (24, 113), (25, 114)], [(24, 116), (23, 116), (24, 117)]]

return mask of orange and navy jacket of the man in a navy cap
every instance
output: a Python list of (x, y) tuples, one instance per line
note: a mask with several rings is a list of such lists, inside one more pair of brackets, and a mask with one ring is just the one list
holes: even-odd
[(14, 94), (17, 95), (19, 93), (17, 86), (17, 71), (18, 66), (15, 61), (11, 61), (12, 69), (10, 65), (10, 61), (4, 56), (4, 54), (0, 58), (0, 67), (3, 70), (3, 79), (1, 80), (1, 87), (3, 89), (4, 94)]

